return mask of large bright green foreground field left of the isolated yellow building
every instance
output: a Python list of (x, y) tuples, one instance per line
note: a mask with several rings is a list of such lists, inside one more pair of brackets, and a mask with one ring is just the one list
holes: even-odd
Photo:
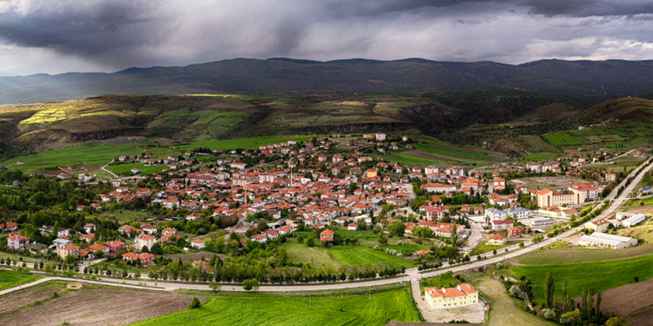
[(370, 295), (300, 297), (251, 293), (212, 296), (200, 308), (182, 310), (131, 325), (385, 325), (390, 320), (421, 321), (406, 286)]

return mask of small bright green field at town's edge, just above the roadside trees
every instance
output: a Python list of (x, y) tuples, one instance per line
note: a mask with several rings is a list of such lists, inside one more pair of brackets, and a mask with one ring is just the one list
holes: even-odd
[(415, 267), (416, 265), (406, 259), (385, 253), (385, 250), (374, 250), (366, 246), (334, 246), (329, 249), (333, 258), (345, 266), (372, 266), (387, 267)]

